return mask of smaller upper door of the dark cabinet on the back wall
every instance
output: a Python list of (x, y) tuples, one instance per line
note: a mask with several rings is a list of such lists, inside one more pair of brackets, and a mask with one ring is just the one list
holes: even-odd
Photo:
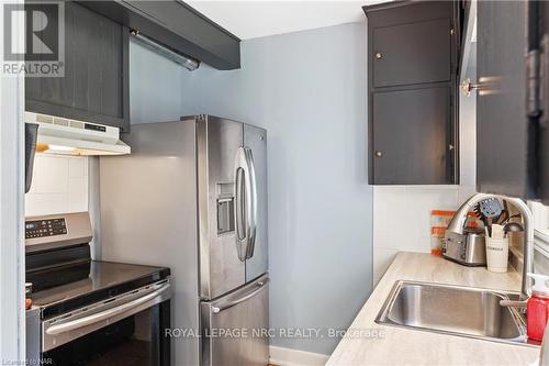
[(373, 86), (450, 80), (450, 19), (373, 30)]

